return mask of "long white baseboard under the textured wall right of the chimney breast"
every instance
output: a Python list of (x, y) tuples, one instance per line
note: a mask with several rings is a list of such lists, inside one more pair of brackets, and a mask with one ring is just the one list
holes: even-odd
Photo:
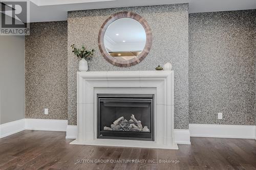
[(254, 139), (255, 126), (189, 124), (191, 137)]

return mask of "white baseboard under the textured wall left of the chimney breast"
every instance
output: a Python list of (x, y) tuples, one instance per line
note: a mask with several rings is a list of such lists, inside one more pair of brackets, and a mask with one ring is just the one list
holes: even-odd
[(68, 120), (26, 118), (26, 130), (66, 132)]

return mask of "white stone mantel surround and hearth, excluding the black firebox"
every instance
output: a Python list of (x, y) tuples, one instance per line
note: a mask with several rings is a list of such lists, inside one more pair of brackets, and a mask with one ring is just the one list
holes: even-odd
[[(97, 94), (155, 94), (155, 140), (97, 138)], [(174, 71), (77, 72), (77, 139), (71, 144), (178, 149), (174, 140)]]

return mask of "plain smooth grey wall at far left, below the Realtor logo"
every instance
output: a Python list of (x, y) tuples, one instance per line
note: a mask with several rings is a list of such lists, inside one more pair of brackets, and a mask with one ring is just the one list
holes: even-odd
[(0, 36), (0, 124), (25, 117), (24, 51), (24, 36)]

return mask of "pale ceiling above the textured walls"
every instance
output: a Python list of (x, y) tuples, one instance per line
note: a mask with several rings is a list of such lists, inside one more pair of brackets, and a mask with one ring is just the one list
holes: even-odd
[(67, 20), (67, 11), (189, 4), (189, 13), (256, 9), (256, 0), (30, 0), (30, 22)]

